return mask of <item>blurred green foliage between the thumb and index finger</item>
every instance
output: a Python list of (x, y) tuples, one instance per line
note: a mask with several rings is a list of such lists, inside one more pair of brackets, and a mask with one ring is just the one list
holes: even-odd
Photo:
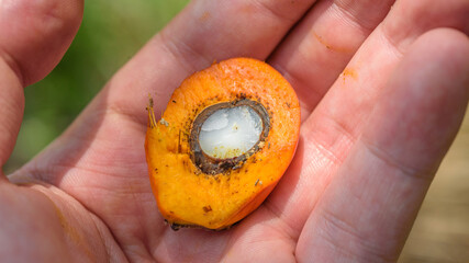
[(54, 71), (25, 89), (21, 132), (4, 171), (14, 171), (56, 138), (111, 76), (188, 0), (86, 1), (81, 27)]

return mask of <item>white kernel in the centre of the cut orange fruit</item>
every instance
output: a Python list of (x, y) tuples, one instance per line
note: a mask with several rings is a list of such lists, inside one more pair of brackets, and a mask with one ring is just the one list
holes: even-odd
[(221, 108), (202, 124), (199, 144), (210, 157), (234, 158), (253, 148), (261, 133), (263, 119), (252, 107)]

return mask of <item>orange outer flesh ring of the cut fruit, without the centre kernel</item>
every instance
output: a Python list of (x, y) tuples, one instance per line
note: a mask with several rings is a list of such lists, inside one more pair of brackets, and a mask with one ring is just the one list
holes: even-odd
[[(241, 99), (260, 102), (270, 117), (263, 147), (236, 170), (204, 174), (192, 163), (189, 135), (205, 107)], [(148, 108), (145, 150), (158, 208), (171, 225), (224, 229), (255, 210), (293, 158), (300, 104), (290, 83), (269, 65), (233, 58), (193, 73), (175, 90), (163, 118)]]

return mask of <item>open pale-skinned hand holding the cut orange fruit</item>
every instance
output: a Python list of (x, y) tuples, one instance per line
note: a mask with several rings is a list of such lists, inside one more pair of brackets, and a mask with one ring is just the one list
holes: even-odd
[[(0, 174), (0, 259), (397, 261), (465, 114), (468, 13), (467, 0), (192, 1), (59, 138)], [(0, 1), (1, 165), (23, 88), (57, 65), (81, 15), (79, 0)], [(239, 56), (295, 89), (297, 155), (232, 229), (172, 231), (147, 176), (147, 95), (159, 115), (187, 76)]]

